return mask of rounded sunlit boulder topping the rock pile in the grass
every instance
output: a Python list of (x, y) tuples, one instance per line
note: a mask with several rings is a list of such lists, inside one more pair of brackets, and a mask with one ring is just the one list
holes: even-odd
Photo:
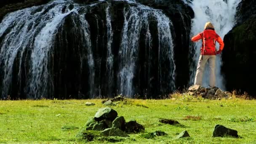
[(110, 107), (105, 107), (99, 109), (96, 114), (94, 115), (94, 119), (96, 121), (101, 121), (101, 120), (115, 120), (117, 117), (117, 112), (114, 109), (111, 109)]

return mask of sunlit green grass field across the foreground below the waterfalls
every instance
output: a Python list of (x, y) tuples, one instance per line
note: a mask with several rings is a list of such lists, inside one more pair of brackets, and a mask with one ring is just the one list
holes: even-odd
[[(86, 101), (95, 106), (85, 106)], [(82, 143), (76, 134), (104, 107), (100, 99), (90, 100), (24, 100), (0, 101), (0, 143)], [(204, 100), (189, 96), (176, 100), (136, 100), (120, 102), (112, 107), (126, 121), (136, 120), (144, 125), (145, 132), (157, 130), (168, 133), (154, 139), (141, 137), (142, 133), (130, 134), (130, 138), (117, 143), (135, 144), (255, 144), (256, 100), (229, 99)], [(179, 121), (173, 126), (159, 123), (159, 118)], [(238, 131), (240, 138), (213, 138), (216, 124)], [(62, 126), (75, 126), (75, 130), (61, 130)], [(174, 139), (187, 130), (190, 138)], [(88, 143), (110, 143), (95, 140)]]

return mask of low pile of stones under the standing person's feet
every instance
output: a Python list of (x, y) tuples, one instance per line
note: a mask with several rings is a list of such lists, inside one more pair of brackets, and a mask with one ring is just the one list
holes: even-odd
[(204, 88), (200, 85), (192, 85), (189, 87), (188, 94), (190, 96), (202, 96), (205, 99), (232, 99), (232, 93), (222, 91), (217, 87)]

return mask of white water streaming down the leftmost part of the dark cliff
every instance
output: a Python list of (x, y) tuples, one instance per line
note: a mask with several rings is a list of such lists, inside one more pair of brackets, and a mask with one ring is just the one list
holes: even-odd
[[(0, 24), (0, 37), (5, 32), (1, 45), (0, 59), (4, 69), (2, 96), (8, 95), (12, 80), (13, 63), (16, 57), (22, 59), (26, 49), (31, 51), (31, 66), (28, 72), (29, 79), (26, 82), (25, 91), (29, 98), (39, 98), (45, 96), (47, 92), (53, 91), (53, 80), (50, 77), (48, 69), (49, 52), (54, 45), (56, 30), (63, 24), (65, 16), (80, 9), (74, 5), (72, 10), (68, 7), (70, 3), (64, 0), (55, 0), (52, 3), (43, 6), (26, 8), (8, 14)], [(63, 11), (65, 9), (65, 11)], [(80, 15), (80, 21), (83, 25), (85, 41), (88, 46), (88, 65), (90, 69), (90, 79), (94, 77), (94, 62), (91, 52), (89, 25), (83, 15)], [(9, 31), (9, 32), (8, 32)], [(17, 55), (17, 53), (20, 53)], [(19, 64), (21, 70), (21, 61)], [(20, 72), (19, 72), (20, 74)], [(20, 76), (20, 75), (19, 75)], [(19, 78), (21, 79), (21, 77)]]

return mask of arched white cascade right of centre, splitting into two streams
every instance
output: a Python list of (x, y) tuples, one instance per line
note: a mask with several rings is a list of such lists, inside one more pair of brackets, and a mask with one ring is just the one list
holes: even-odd
[[(160, 10), (155, 10), (144, 5), (130, 7), (125, 13), (122, 43), (119, 51), (120, 70), (119, 85), (123, 95), (133, 96), (133, 78), (135, 77), (136, 62), (139, 53), (139, 38), (142, 27), (146, 27), (146, 42), (151, 45), (149, 32), (149, 16), (155, 17), (159, 38), (158, 51), (158, 77), (160, 91), (164, 91), (163, 81), (168, 80), (165, 88), (175, 88), (175, 64), (173, 60), (173, 41), (171, 35), (171, 21)], [(149, 50), (150, 51), (150, 50)], [(161, 67), (161, 63), (169, 61), (169, 67)], [(165, 73), (168, 69), (168, 72)], [(163, 76), (163, 74), (165, 76)], [(165, 79), (163, 77), (168, 77)]]

